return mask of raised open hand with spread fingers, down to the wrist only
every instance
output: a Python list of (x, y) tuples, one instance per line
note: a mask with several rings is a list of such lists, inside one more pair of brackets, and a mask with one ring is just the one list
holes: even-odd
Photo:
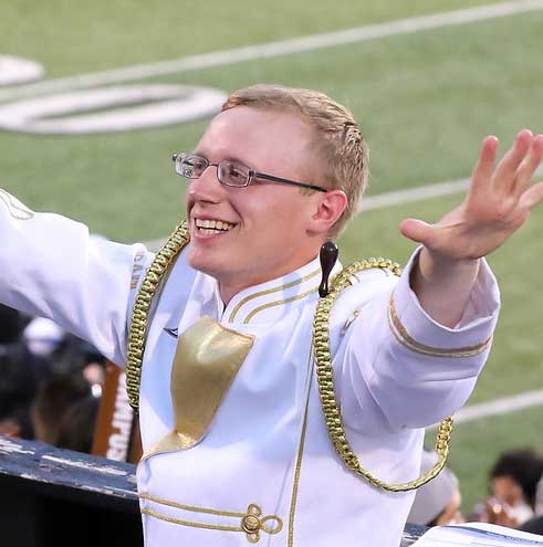
[(435, 224), (406, 219), (401, 233), (446, 262), (479, 259), (498, 249), (543, 201), (543, 182), (531, 185), (543, 157), (543, 135), (523, 129), (494, 167), (497, 151), (498, 139), (487, 137), (463, 202)]

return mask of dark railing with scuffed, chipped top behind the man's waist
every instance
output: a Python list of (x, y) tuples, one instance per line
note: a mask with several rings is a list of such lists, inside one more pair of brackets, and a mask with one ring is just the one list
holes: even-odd
[[(0, 435), (0, 545), (142, 546), (135, 471), (129, 463)], [(424, 530), (407, 525), (401, 547)]]

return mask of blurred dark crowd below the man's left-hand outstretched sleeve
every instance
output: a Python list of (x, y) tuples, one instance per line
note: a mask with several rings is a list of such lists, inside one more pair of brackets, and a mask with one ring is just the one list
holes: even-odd
[(0, 434), (91, 452), (104, 367), (52, 320), (0, 305)]

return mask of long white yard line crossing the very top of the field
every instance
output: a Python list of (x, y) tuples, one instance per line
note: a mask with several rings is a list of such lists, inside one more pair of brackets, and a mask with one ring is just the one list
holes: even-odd
[(519, 13), (529, 13), (542, 9), (543, 0), (515, 0), (443, 13), (400, 19), (397, 21), (357, 27), (343, 31), (325, 32), (264, 44), (248, 45), (233, 50), (190, 55), (171, 61), (161, 61), (92, 74), (54, 78), (42, 83), (28, 84), (12, 90), (0, 91), (0, 101), (10, 101), (42, 93), (130, 82), (166, 74), (179, 74), (188, 71), (230, 65), (243, 61), (271, 59), (397, 34), (409, 34), (428, 29), (440, 29), (443, 27), (504, 18)]

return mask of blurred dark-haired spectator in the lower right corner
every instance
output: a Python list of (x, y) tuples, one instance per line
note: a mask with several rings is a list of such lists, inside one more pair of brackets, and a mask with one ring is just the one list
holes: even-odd
[(516, 528), (534, 516), (543, 457), (532, 449), (503, 452), (490, 471), (492, 496), (476, 507), (473, 519)]

